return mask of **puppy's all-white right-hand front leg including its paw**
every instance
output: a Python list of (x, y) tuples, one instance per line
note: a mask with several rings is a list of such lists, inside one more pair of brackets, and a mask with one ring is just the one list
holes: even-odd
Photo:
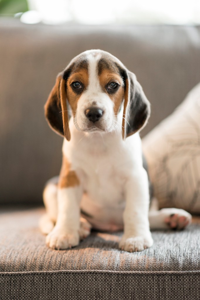
[(125, 196), (124, 234), (119, 247), (129, 252), (142, 251), (153, 244), (148, 219), (148, 177), (142, 167), (137, 173), (132, 174), (126, 182)]

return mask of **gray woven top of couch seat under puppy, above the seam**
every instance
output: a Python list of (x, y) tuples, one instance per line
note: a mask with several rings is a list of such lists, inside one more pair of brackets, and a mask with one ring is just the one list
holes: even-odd
[(142, 252), (118, 249), (122, 232), (92, 232), (77, 247), (51, 250), (38, 229), (43, 209), (0, 217), (0, 271), (199, 271), (200, 224), (183, 231), (154, 231), (154, 245)]

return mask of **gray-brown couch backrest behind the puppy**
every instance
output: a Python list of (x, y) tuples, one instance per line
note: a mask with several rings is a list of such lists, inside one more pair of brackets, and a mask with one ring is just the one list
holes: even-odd
[(144, 135), (200, 81), (199, 46), (199, 26), (45, 26), (0, 19), (0, 203), (41, 203), (45, 182), (58, 174), (62, 138), (48, 127), (43, 106), (57, 73), (75, 55), (100, 48), (136, 73), (151, 102)]

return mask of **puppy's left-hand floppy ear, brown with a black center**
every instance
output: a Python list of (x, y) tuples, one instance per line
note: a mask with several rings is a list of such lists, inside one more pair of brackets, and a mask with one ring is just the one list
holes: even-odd
[(45, 104), (45, 116), (49, 126), (58, 134), (65, 136), (70, 140), (70, 131), (68, 120), (66, 80), (62, 74), (56, 78), (56, 83), (52, 88)]

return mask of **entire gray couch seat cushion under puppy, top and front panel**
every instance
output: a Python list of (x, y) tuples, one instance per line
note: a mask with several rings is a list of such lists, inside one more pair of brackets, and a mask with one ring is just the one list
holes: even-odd
[(172, 299), (172, 291), (173, 299), (198, 299), (200, 223), (154, 231), (154, 245), (138, 253), (118, 249), (122, 232), (95, 231), (77, 247), (58, 251), (47, 248), (39, 232), (43, 212), (1, 214), (0, 291), (12, 290), (2, 299), (28, 299), (28, 291), (30, 299), (38, 291), (40, 299), (147, 299), (146, 293), (148, 299)]

